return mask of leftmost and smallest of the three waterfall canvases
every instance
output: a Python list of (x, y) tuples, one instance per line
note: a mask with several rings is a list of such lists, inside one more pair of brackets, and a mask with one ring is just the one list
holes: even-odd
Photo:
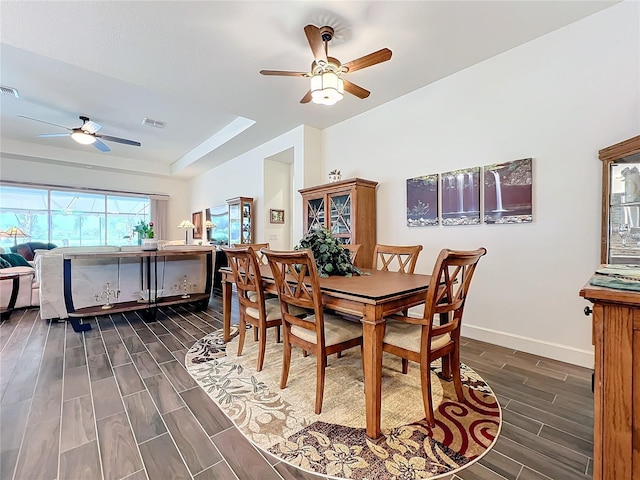
[(438, 174), (407, 180), (407, 226), (438, 225)]

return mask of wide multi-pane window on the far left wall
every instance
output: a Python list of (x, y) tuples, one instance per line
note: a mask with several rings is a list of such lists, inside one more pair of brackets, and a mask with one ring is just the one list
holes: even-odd
[(5, 249), (26, 241), (58, 246), (123, 245), (137, 242), (133, 227), (150, 220), (148, 197), (53, 188), (0, 185), (0, 230), (18, 227), (25, 236), (2, 236)]

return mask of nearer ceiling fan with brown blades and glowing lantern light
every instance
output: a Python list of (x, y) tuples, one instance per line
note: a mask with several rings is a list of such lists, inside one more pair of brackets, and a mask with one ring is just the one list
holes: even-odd
[(391, 58), (391, 50), (383, 48), (351, 62), (341, 63), (337, 58), (328, 56), (329, 42), (334, 34), (333, 28), (327, 26), (318, 28), (315, 25), (307, 25), (304, 27), (304, 33), (307, 35), (314, 57), (310, 72), (260, 70), (260, 73), (262, 75), (282, 77), (311, 78), (311, 88), (302, 97), (300, 103), (313, 101), (314, 103), (333, 105), (342, 99), (345, 91), (358, 98), (367, 98), (371, 92), (342, 78), (342, 76), (345, 73), (355, 72), (356, 70), (386, 62)]

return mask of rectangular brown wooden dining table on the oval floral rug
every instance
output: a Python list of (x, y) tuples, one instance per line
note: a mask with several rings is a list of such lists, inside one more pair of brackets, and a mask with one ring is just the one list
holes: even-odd
[[(380, 438), (382, 390), (382, 338), (385, 317), (423, 304), (431, 275), (407, 274), (363, 268), (362, 275), (329, 276), (320, 278), (323, 308), (359, 318), (362, 322), (366, 434)], [(231, 339), (231, 297), (233, 273), (229, 267), (222, 274), (223, 336)], [(277, 293), (269, 265), (260, 266), (260, 274), (267, 293)], [(443, 366), (443, 376), (450, 375)]]

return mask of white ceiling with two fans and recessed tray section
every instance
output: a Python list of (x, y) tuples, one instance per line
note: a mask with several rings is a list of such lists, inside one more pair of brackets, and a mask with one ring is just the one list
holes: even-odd
[[(323, 129), (509, 50), (615, 1), (5, 1), (0, 3), (3, 155), (190, 178), (292, 128)], [(332, 107), (300, 104), (303, 28), (329, 25), (343, 63), (387, 47), (390, 61), (352, 74), (371, 91)], [(17, 117), (142, 143), (76, 144)], [(164, 129), (143, 118), (166, 122)], [(253, 123), (255, 122), (255, 123)], [(251, 125), (241, 133), (246, 125)], [(357, 132), (354, 132), (357, 133)], [(364, 132), (361, 132), (364, 134)], [(230, 139), (229, 139), (230, 138)]]

